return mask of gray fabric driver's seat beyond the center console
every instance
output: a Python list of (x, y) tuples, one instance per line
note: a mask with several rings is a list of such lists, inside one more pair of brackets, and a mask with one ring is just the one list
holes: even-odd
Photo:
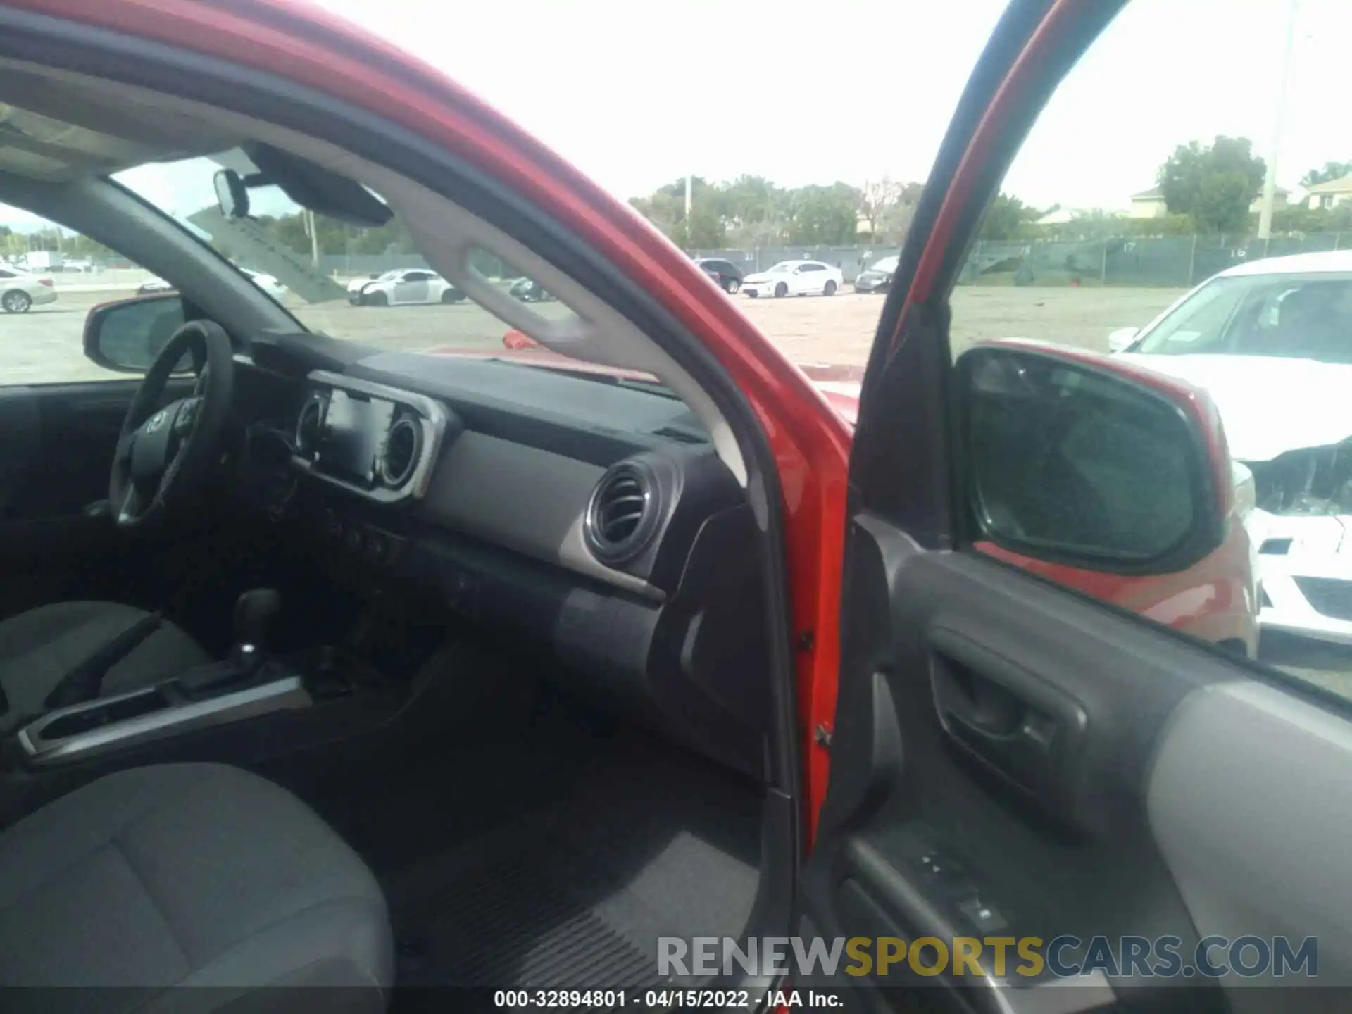
[[(58, 602), (0, 622), (0, 688), (9, 710), (0, 731), (46, 711), (43, 700), (72, 668), (146, 617), (112, 602)], [(197, 642), (172, 623), (108, 669), (103, 696), (147, 687), (211, 661)]]

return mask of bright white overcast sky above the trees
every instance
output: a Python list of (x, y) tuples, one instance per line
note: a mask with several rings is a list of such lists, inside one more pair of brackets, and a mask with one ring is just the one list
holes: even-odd
[[(622, 199), (685, 173), (786, 187), (923, 181), (1003, 8), (318, 3), (477, 92)], [(1293, 189), (1307, 169), (1352, 160), (1352, 3), (1298, 4), (1278, 160), (1278, 183)], [(1125, 208), (1179, 143), (1242, 135), (1267, 157), (1290, 9), (1291, 0), (1134, 0), (1044, 110), (1005, 189), (1034, 207)], [(137, 178), (161, 206), (210, 195), (174, 169)]]

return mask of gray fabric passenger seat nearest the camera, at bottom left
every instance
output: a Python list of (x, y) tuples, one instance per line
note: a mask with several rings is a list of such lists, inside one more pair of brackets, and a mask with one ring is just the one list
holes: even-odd
[(101, 987), (4, 990), (5, 1010), (381, 1011), (392, 979), (365, 864), (238, 768), (123, 771), (0, 833), (0, 987)]

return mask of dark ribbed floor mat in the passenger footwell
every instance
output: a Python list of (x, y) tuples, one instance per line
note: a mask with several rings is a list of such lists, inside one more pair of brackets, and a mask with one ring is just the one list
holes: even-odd
[[(529, 794), (493, 779), (488, 827), (485, 810), (461, 808), (487, 794), (446, 786), (472, 837), (445, 836), (442, 850), (381, 876), (400, 986), (641, 990), (658, 982), (660, 937), (742, 932), (758, 887), (760, 792), (645, 737), (592, 746), (575, 744)], [(511, 798), (533, 803), (507, 815)]]

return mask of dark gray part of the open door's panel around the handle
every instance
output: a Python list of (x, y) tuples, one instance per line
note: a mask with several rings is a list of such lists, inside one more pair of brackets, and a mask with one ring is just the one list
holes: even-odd
[[(926, 553), (875, 516), (854, 519), (848, 550), (849, 600), (868, 606), (845, 614), (831, 786), (804, 882), (822, 936), (1174, 933), (1191, 950), (1199, 934), (1146, 800), (1157, 737), (1190, 694), (1234, 677), (1224, 660), (975, 554)], [(956, 726), (945, 711), (963, 694), (986, 695), (968, 714), (1015, 746), (992, 758)], [(1138, 1002), (1211, 1002), (1153, 992)], [(995, 994), (963, 995), (999, 1009), (975, 999)], [(1067, 995), (1071, 1010), (1103, 999), (1083, 983)]]

